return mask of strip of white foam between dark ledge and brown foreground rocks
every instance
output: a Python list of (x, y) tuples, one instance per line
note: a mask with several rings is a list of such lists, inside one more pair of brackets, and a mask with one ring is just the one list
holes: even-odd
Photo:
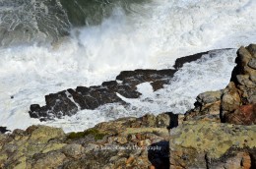
[[(72, 117), (44, 122), (62, 127), (66, 132), (80, 131), (94, 127), (99, 122), (121, 117), (140, 117), (146, 113), (158, 115), (162, 112), (184, 113), (193, 108), (196, 96), (207, 90), (222, 89), (228, 84), (234, 64), (235, 49), (216, 51), (202, 59), (187, 63), (171, 80), (170, 85), (153, 91), (150, 83), (137, 85), (140, 98), (125, 98), (117, 95), (129, 105), (118, 103), (103, 105), (96, 110), (83, 110)], [(212, 57), (211, 57), (212, 56)]]

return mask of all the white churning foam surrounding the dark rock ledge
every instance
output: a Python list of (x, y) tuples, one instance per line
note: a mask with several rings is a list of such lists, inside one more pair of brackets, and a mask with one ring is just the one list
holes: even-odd
[[(125, 16), (117, 9), (100, 26), (74, 29), (71, 38), (53, 47), (0, 49), (0, 126), (13, 130), (39, 124), (30, 118), (29, 107), (45, 104), (44, 95), (50, 92), (101, 84), (122, 70), (171, 68), (180, 56), (256, 42), (255, 0), (156, 0), (133, 8), (139, 13)], [(198, 93), (224, 88), (234, 57), (231, 50), (216, 60), (188, 64), (172, 85), (157, 92), (142, 84), (141, 89), (147, 87), (149, 92), (144, 89), (142, 98), (127, 100), (129, 107), (109, 104), (43, 124), (69, 132), (148, 112), (184, 113)]]

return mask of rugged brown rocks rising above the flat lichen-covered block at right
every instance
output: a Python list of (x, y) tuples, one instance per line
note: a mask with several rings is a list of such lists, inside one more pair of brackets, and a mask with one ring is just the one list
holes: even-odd
[(255, 52), (255, 44), (240, 47), (230, 83), (222, 90), (199, 94), (195, 108), (185, 114), (184, 120), (256, 124)]

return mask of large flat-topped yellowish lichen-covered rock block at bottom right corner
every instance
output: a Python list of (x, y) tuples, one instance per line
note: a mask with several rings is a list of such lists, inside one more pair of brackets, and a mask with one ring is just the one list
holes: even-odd
[(256, 126), (186, 122), (170, 131), (170, 168), (255, 166)]

